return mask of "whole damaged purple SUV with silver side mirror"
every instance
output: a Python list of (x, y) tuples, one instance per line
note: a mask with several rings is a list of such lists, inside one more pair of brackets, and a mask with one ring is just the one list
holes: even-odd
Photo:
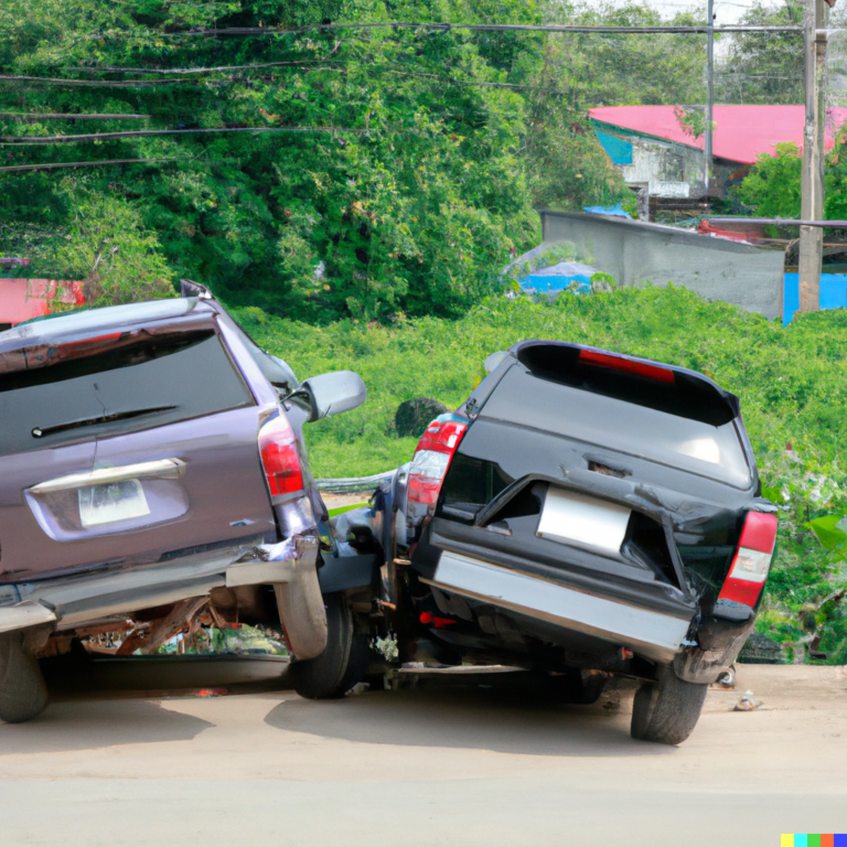
[(0, 333), (3, 720), (45, 707), (37, 657), (83, 631), (146, 621), (128, 643), (152, 652), (212, 603), (281, 621), (298, 660), (326, 644), (302, 426), (365, 386), (299, 384), (205, 288), (182, 293)]

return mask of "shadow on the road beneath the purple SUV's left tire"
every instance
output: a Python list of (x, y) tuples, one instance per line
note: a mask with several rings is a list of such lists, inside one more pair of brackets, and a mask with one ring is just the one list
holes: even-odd
[(189, 741), (212, 723), (141, 700), (57, 703), (28, 723), (0, 723), (0, 759), (120, 744)]

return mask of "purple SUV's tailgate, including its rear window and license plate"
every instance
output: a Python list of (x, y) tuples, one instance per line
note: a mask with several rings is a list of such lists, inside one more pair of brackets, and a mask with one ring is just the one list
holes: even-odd
[(0, 579), (275, 534), (260, 408), (213, 313), (50, 350), (0, 374)]

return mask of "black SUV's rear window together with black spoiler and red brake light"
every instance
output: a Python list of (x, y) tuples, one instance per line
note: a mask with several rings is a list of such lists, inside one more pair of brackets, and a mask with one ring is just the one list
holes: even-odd
[[(527, 342), (480, 417), (629, 453), (746, 490), (738, 400), (691, 372), (578, 345)], [(526, 436), (530, 437), (530, 436)]]

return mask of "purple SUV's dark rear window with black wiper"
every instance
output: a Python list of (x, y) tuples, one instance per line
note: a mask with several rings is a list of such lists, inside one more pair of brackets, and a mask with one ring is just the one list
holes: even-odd
[(21, 351), (18, 366), (0, 373), (0, 454), (253, 404), (213, 330), (142, 330), (44, 350)]

